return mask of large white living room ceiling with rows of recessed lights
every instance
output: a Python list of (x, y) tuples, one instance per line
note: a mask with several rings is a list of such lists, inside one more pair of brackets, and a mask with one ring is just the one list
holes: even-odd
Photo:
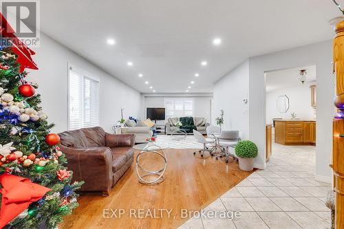
[(250, 56), (332, 39), (340, 15), (330, 0), (44, 0), (41, 30), (138, 91), (185, 92), (195, 80), (196, 93)]

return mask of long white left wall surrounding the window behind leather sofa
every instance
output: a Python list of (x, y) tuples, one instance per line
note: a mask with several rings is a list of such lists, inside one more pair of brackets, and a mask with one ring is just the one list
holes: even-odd
[(100, 126), (105, 131), (120, 120), (120, 107), (124, 107), (125, 117), (140, 113), (140, 92), (120, 82), (96, 65), (78, 56), (65, 46), (41, 34), (41, 46), (34, 49), (32, 56), (39, 70), (31, 71), (28, 80), (38, 83), (36, 91), (42, 96), (43, 111), (48, 121), (58, 133), (67, 130), (67, 63), (72, 63), (100, 78)]

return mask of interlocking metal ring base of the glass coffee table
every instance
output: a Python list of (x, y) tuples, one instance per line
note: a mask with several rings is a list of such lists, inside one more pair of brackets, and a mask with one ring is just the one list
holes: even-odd
[[(156, 149), (156, 146), (153, 146), (152, 147), (153, 149), (151, 150), (149, 148), (150, 146), (147, 146), (147, 148), (140, 151), (140, 153), (138, 153), (138, 156), (136, 157), (136, 175), (138, 175), (138, 182), (140, 182), (141, 184), (147, 184), (147, 185), (160, 184), (165, 179), (164, 173), (166, 171), (166, 165), (167, 165), (166, 153), (162, 149)], [(162, 153), (160, 153), (160, 151)], [(140, 157), (142, 157), (142, 155), (146, 153), (153, 153), (162, 157), (162, 159), (164, 160), (164, 167), (158, 171), (149, 171), (145, 168), (142, 168), (140, 164)], [(141, 172), (143, 171), (146, 174), (140, 175), (140, 171)], [(147, 179), (149, 177), (155, 177), (155, 178), (151, 180)]]

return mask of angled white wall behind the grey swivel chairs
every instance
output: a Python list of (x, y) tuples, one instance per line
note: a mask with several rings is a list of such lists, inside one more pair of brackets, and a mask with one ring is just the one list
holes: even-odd
[[(248, 61), (241, 63), (218, 80), (214, 85), (214, 119), (224, 109), (224, 127), (226, 130), (239, 130), (242, 139), (248, 139), (249, 133), (249, 102), (248, 98)], [(214, 122), (215, 123), (215, 122)]]

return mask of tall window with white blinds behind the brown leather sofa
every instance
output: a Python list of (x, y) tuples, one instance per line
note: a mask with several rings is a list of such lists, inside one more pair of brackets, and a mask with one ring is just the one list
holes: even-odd
[(99, 125), (99, 80), (69, 67), (69, 130)]

